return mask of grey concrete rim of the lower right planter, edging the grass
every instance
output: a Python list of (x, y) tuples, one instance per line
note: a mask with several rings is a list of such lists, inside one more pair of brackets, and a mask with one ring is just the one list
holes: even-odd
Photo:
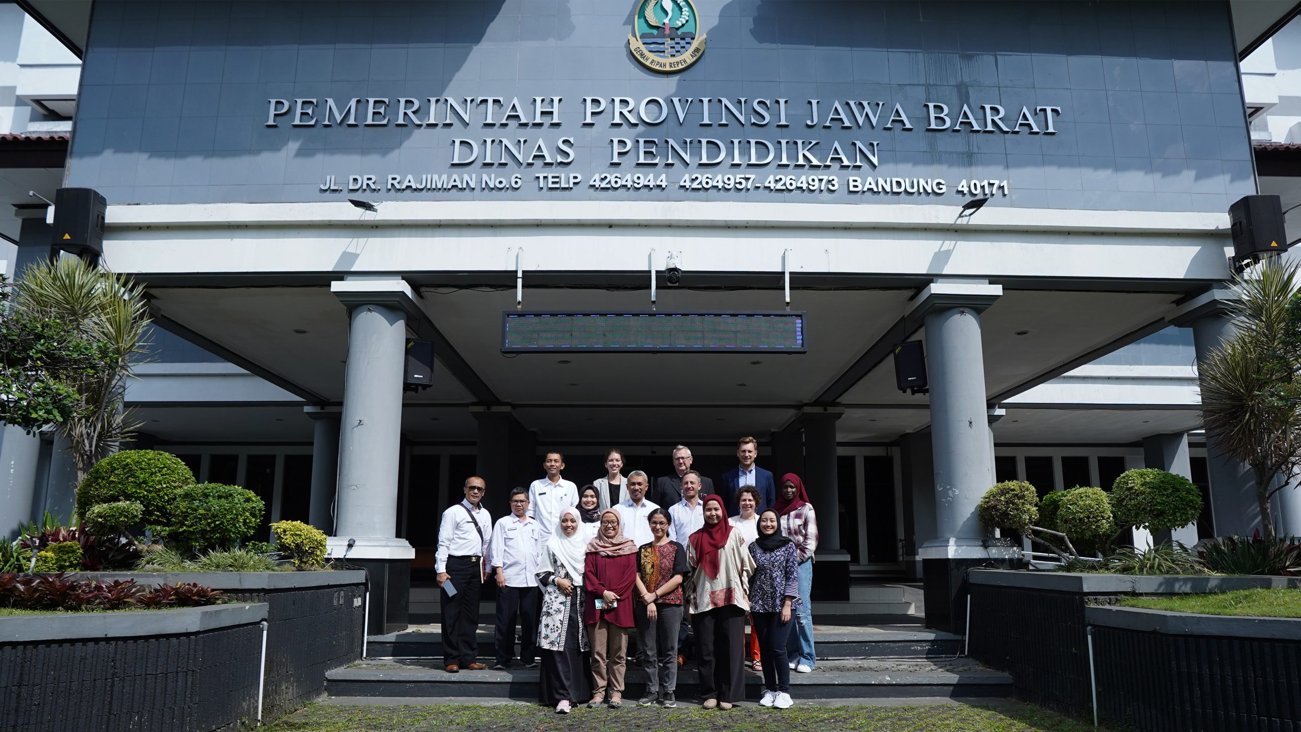
[(1167, 636), (1301, 641), (1301, 619), (1298, 617), (1198, 615), (1141, 607), (1086, 607), (1084, 608), (1084, 619), (1089, 625), (1155, 632)]

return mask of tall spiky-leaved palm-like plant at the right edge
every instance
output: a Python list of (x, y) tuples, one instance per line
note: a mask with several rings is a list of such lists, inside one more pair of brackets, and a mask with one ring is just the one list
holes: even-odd
[(1281, 258), (1235, 277), (1233, 335), (1198, 365), (1202, 422), (1252, 468), (1266, 538), (1275, 535), (1270, 499), (1301, 468), (1297, 287), (1297, 266)]

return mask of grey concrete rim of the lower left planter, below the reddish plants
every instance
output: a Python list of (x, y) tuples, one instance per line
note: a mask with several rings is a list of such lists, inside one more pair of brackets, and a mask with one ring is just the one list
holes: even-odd
[(213, 604), (130, 612), (52, 612), (0, 617), (0, 643), (74, 638), (144, 638), (199, 633), (267, 619), (267, 603)]

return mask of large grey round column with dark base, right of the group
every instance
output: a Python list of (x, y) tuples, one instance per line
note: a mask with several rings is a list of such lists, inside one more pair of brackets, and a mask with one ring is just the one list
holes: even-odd
[(925, 324), (930, 382), (930, 445), (935, 534), (921, 547), (926, 626), (960, 632), (967, 619), (967, 570), (1019, 554), (990, 547), (976, 508), (994, 485), (990, 409), (980, 314), (1003, 288), (982, 281), (935, 281), (908, 317)]

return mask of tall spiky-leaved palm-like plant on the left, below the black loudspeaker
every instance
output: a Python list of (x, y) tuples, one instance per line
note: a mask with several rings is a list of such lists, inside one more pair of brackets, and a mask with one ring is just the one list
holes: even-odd
[(126, 379), (144, 352), (148, 302), (143, 285), (74, 257), (33, 264), (18, 283), (16, 307), (69, 323), (90, 340), (109, 345), (112, 369), (88, 374), (77, 384), (86, 409), (59, 426), (72, 444), (77, 482), (96, 461), (117, 452), (139, 422), (124, 409)]

